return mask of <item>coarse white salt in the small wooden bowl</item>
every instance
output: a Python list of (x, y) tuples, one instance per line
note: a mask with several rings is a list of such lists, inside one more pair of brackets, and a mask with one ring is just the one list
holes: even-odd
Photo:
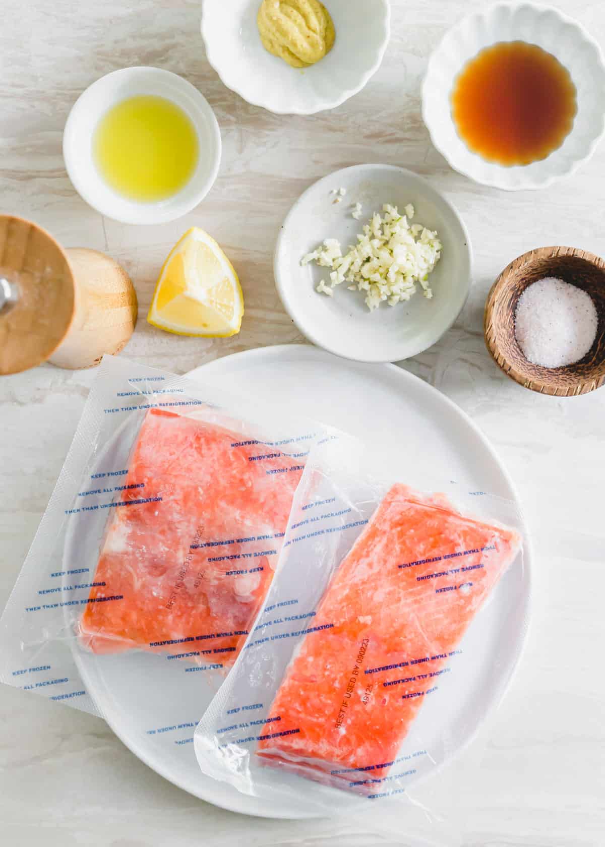
[(549, 276), (528, 285), (519, 297), (514, 334), (530, 362), (562, 368), (586, 356), (597, 322), (597, 309), (586, 291)]

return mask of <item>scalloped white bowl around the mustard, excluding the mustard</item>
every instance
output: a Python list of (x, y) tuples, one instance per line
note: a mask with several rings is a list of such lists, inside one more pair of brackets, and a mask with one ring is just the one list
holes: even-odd
[(208, 62), (225, 86), (278, 114), (313, 114), (340, 106), (379, 68), (389, 41), (388, 0), (323, 0), (336, 41), (308, 68), (268, 53), (258, 35), (261, 0), (205, 0), (202, 37)]

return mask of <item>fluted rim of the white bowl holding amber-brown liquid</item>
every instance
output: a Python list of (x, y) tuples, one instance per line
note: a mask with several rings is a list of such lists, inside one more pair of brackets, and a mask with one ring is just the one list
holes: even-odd
[[(441, 41), (438, 43), (438, 45), (435, 47), (433, 52), (430, 54), (429, 63), (427, 65), (425, 77), (423, 79), (422, 88), (421, 88), (422, 119), (424, 120), (425, 125), (426, 125), (427, 129), (429, 130), (430, 141), (432, 142), (433, 146), (436, 148), (437, 152), (440, 152), (441, 156), (443, 156), (443, 158), (445, 158), (447, 160), (447, 163), (450, 165), (450, 167), (458, 172), (458, 174), (462, 174), (463, 176), (466, 176), (469, 180), (473, 180), (474, 182), (476, 182), (480, 185), (487, 185), (491, 188), (498, 188), (498, 189), (501, 189), (503, 191), (524, 191), (524, 190), (536, 190), (536, 189), (541, 189), (541, 188), (547, 188), (550, 185), (553, 185), (554, 183), (558, 182), (559, 180), (564, 180), (564, 179), (567, 179), (569, 176), (573, 176), (573, 174), (575, 174), (576, 171), (578, 169), (580, 169), (581, 165), (586, 163), (591, 158), (591, 156), (593, 155), (593, 153), (597, 149), (597, 145), (602, 140), (602, 136), (605, 134), (605, 110), (603, 111), (602, 116), (601, 116), (599, 130), (598, 130), (597, 134), (592, 138), (588, 147), (586, 148), (586, 152), (584, 152), (579, 158), (575, 158), (569, 164), (568, 168), (560, 169), (558, 171), (551, 172), (550, 174), (545, 174), (541, 178), (531, 177), (530, 175), (527, 175), (525, 177), (525, 180), (519, 180), (519, 182), (517, 182), (515, 184), (511, 184), (511, 182), (508, 178), (508, 174), (510, 173), (510, 169), (506, 168), (505, 166), (498, 165), (497, 163), (487, 162), (486, 160), (481, 159), (478, 155), (473, 154), (470, 151), (468, 151), (469, 157), (475, 156), (475, 158), (479, 159), (480, 162), (483, 165), (488, 165), (489, 168), (491, 169), (491, 174), (493, 174), (493, 175), (481, 176), (479, 178), (476, 174), (476, 171), (474, 172), (473, 169), (469, 168), (468, 166), (465, 166), (463, 163), (459, 163), (458, 161), (454, 162), (453, 159), (452, 159), (452, 156), (447, 151), (447, 147), (445, 147), (445, 145), (442, 144), (441, 141), (436, 140), (437, 133), (436, 133), (436, 129), (435, 129), (435, 124), (430, 118), (427, 117), (428, 90), (429, 90), (430, 84), (432, 84), (432, 80), (430, 79), (430, 75), (431, 75), (431, 73), (434, 72), (436, 60), (437, 60), (436, 58), (441, 53), (441, 51), (444, 47), (444, 44), (447, 42), (447, 38), (452, 36), (453, 32), (462, 30), (463, 26), (468, 25), (471, 20), (474, 20), (474, 19), (476, 19), (476, 20), (489, 19), (490, 17), (493, 17), (494, 14), (497, 14), (498, 9), (502, 9), (502, 8), (506, 8), (506, 9), (510, 9), (510, 10), (514, 10), (514, 11), (518, 11), (519, 9), (523, 9), (523, 8), (528, 8), (528, 9), (531, 9), (536, 14), (536, 16), (540, 16), (541, 14), (546, 14), (546, 13), (553, 14), (563, 24), (568, 25), (570, 28), (572, 28), (576, 31), (579, 42), (582, 42), (582, 43), (585, 43), (585, 44), (586, 43), (590, 44), (591, 47), (593, 47), (593, 49), (596, 53), (597, 65), (600, 67), (600, 69), (602, 71), (603, 78), (605, 79), (605, 60), (603, 59), (601, 47), (598, 44), (598, 42), (588, 34), (588, 32), (586, 31), (584, 26), (581, 25), (579, 21), (575, 20), (574, 18), (571, 18), (568, 14), (564, 14), (558, 8), (555, 8), (553, 6), (547, 6), (547, 5), (544, 5), (544, 4), (541, 4), (541, 3), (525, 3), (525, 2), (523, 2), (523, 3), (494, 3), (489, 8), (487, 8), (485, 11), (472, 12), (468, 15), (465, 15), (462, 20), (458, 21), (458, 23), (456, 25), (453, 25), (452, 27), (450, 27), (449, 30), (447, 30), (444, 33), (444, 35), (441, 37)], [(515, 39), (501, 39), (501, 41), (508, 41), (508, 40), (513, 41)], [(519, 38), (519, 40), (524, 40), (524, 39)], [(477, 53), (480, 50), (484, 49), (484, 47), (489, 47), (490, 44), (494, 44), (494, 43), (497, 43), (497, 42), (495, 42), (495, 41), (494, 42), (486, 42), (486, 44), (484, 44), (482, 47), (477, 48)], [(542, 48), (542, 49), (545, 49), (545, 48)], [(475, 53), (475, 55), (476, 55), (476, 53)], [(469, 57), (469, 58), (472, 58), (472, 57)], [(469, 61), (469, 58), (463, 59), (462, 63), (460, 64), (461, 69), (463, 67), (463, 64), (465, 64), (467, 61)], [(451, 88), (450, 88), (449, 91), (451, 91)], [(448, 118), (450, 120), (452, 120), (451, 116), (448, 116)], [(452, 121), (452, 123), (453, 123), (453, 121)], [(573, 136), (573, 133), (574, 133), (574, 128), (572, 128), (572, 130), (570, 131), (569, 136)], [(558, 149), (560, 149), (560, 148), (558, 148)], [(556, 152), (556, 151), (553, 151), (553, 152)], [(472, 160), (472, 159), (470, 159), (470, 160)], [(547, 159), (543, 159), (541, 161), (546, 162)]]

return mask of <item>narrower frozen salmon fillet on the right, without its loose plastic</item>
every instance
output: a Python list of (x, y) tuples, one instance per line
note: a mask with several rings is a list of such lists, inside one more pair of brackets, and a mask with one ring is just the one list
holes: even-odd
[(520, 544), (513, 529), (463, 515), (444, 495), (394, 485), (331, 579), (258, 755), (331, 783), (386, 777)]

